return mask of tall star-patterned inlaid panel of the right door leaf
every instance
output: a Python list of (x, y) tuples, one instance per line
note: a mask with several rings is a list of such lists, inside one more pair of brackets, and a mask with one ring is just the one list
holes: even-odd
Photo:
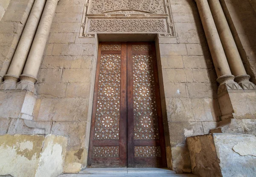
[(152, 55), (132, 55), (134, 139), (159, 139)]

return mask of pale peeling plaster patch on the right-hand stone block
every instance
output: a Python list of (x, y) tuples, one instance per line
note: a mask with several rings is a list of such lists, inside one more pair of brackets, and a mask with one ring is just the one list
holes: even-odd
[(256, 139), (247, 138), (243, 142), (237, 143), (232, 149), (239, 155), (253, 155), (256, 157)]

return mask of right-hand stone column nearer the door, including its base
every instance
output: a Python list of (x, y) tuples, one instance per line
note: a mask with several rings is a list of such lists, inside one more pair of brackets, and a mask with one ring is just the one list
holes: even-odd
[(213, 64), (218, 76), (217, 81), (220, 84), (234, 83), (234, 78), (231, 74), (230, 67), (224, 49), (221, 44), (221, 39), (218, 35), (211, 10), (207, 0), (195, 0), (198, 6), (198, 11), (204, 27), (204, 33), (207, 38), (209, 49), (212, 55)]

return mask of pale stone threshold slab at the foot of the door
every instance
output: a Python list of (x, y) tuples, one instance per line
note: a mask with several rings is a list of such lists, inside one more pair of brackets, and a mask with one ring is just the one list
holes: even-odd
[(175, 174), (175, 171), (160, 168), (88, 168), (80, 174)]

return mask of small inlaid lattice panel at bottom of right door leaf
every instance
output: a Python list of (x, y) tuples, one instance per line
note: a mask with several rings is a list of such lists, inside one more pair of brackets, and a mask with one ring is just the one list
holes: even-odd
[(161, 157), (160, 146), (135, 146), (135, 157)]

